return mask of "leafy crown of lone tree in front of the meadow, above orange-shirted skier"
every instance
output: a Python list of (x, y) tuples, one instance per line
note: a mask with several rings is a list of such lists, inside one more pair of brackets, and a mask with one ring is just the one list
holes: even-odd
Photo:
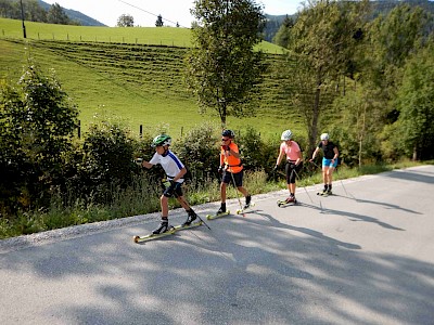
[(196, 0), (191, 13), (196, 24), (187, 82), (200, 107), (216, 109), (224, 126), (227, 116), (252, 114), (255, 86), (266, 69), (263, 53), (254, 51), (265, 24), (261, 6), (251, 0)]

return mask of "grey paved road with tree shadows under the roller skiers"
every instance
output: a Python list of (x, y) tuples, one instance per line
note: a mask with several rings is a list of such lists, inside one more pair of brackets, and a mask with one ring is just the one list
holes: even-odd
[(156, 214), (0, 240), (0, 324), (434, 324), (434, 166), (334, 192), (143, 245)]

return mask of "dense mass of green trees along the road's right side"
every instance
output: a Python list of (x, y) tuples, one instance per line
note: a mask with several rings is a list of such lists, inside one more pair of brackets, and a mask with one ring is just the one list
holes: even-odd
[(304, 118), (309, 151), (327, 131), (359, 165), (433, 158), (433, 14), (406, 2), (375, 18), (372, 10), (367, 0), (312, 0), (282, 24), (291, 109)]

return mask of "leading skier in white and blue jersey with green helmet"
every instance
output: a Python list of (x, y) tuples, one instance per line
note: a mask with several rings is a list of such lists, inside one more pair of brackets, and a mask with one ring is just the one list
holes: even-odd
[(196, 213), (183, 198), (182, 194), (182, 183), (183, 183), (183, 176), (187, 173), (187, 168), (183, 166), (181, 160), (175, 155), (170, 150), (169, 146), (171, 144), (171, 138), (167, 134), (161, 134), (155, 136), (152, 141), (152, 146), (155, 147), (155, 154), (151, 158), (150, 161), (142, 161), (142, 167), (152, 168), (154, 165), (162, 165), (164, 171), (167, 176), (167, 181), (170, 183), (159, 198), (159, 203), (162, 206), (162, 222), (159, 226), (154, 230), (153, 234), (161, 234), (167, 232), (169, 230), (169, 222), (168, 222), (168, 213), (169, 213), (169, 206), (168, 206), (168, 198), (175, 196), (176, 199), (180, 203), (182, 208), (186, 209), (187, 213), (189, 214), (186, 222), (182, 225), (190, 225), (193, 220), (197, 218)]

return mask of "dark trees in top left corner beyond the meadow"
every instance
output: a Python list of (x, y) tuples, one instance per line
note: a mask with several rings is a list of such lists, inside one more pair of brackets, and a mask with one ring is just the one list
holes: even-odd
[[(29, 22), (80, 25), (71, 20), (59, 3), (51, 4), (49, 10), (43, 9), (37, 0), (23, 0), (24, 20)], [(10, 20), (22, 20), (22, 8), (18, 0), (0, 0), (0, 16)]]

